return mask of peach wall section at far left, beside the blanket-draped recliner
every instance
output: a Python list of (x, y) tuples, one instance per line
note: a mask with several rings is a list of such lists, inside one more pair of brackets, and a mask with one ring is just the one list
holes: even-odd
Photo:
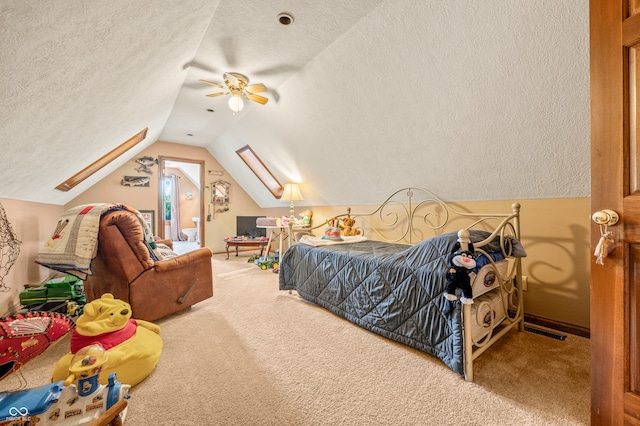
[(46, 281), (54, 271), (34, 262), (40, 247), (44, 245), (64, 209), (53, 204), (32, 203), (29, 201), (0, 198), (9, 223), (20, 244), (20, 254), (16, 263), (4, 279), (8, 290), (0, 292), (0, 316), (7, 315), (19, 307), (19, 294), (25, 284), (37, 284)]

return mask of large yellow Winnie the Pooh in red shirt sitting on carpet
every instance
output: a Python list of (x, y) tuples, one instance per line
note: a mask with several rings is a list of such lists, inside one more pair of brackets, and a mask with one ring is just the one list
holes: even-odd
[(71, 352), (56, 363), (52, 380), (69, 375), (73, 356), (80, 349), (101, 345), (107, 352), (107, 366), (100, 373), (100, 383), (107, 384), (109, 374), (134, 386), (144, 380), (156, 366), (162, 353), (162, 339), (157, 325), (131, 318), (131, 306), (105, 293), (84, 306), (71, 334)]

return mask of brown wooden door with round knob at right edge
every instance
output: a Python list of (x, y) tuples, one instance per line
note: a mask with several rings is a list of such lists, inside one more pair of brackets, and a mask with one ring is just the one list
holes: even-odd
[[(590, 1), (591, 207), (620, 214), (591, 262), (591, 423), (640, 425), (640, 0)], [(600, 229), (591, 226), (592, 252)]]

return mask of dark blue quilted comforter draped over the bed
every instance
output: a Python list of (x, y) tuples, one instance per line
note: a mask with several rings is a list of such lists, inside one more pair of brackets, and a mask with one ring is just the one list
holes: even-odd
[[(478, 236), (472, 241), (477, 241)], [(464, 375), (459, 303), (449, 302), (448, 258), (457, 234), (414, 246), (379, 241), (295, 244), (280, 261), (280, 290), (296, 290), (382, 336), (420, 349)]]

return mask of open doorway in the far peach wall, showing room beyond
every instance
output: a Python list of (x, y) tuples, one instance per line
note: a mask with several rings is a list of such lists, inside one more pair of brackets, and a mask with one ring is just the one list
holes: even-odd
[(158, 156), (158, 235), (178, 254), (204, 247), (204, 161)]

